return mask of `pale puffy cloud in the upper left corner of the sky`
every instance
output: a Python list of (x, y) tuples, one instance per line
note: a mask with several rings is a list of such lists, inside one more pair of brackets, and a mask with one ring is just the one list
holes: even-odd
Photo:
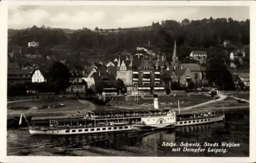
[(23, 10), (21, 7), (12, 7), (8, 16), (9, 27), (24, 28), (24, 25), (26, 27), (41, 26), (50, 14), (42, 9)]

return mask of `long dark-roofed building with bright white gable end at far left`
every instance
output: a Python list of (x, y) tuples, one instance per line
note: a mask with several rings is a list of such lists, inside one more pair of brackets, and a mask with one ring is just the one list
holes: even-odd
[(33, 69), (8, 69), (8, 84), (17, 83), (41, 83), (46, 82), (45, 77), (37, 68)]

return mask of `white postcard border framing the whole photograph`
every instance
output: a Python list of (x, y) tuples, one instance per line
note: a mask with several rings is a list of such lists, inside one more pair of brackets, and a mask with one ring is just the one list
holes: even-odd
[[(70, 157), (70, 156), (6, 156), (6, 117), (7, 117), (7, 8), (8, 5), (90, 5), (90, 6), (250, 6), (250, 83), (256, 83), (254, 72), (255, 68), (253, 61), (256, 61), (255, 54), (255, 2), (253, 1), (2, 1), (1, 7), (1, 30), (0, 30), (0, 54), (1, 54), (1, 162), (133, 162), (133, 161), (147, 161), (147, 162), (254, 162), (255, 159), (255, 117), (256, 111), (253, 106), (256, 97), (256, 89), (254, 84), (250, 85), (250, 157)], [(253, 17), (254, 15), (254, 17)]]

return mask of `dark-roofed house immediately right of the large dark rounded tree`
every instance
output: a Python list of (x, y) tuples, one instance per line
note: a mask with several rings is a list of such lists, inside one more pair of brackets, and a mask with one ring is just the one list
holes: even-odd
[(86, 82), (83, 80), (83, 72), (77, 69), (70, 69), (70, 86), (66, 91), (70, 94), (85, 93), (87, 88)]

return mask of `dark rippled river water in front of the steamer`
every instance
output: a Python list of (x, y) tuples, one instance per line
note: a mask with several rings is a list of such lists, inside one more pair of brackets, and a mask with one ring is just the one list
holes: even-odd
[[(163, 146), (176, 143), (181, 148)], [(205, 151), (188, 150), (181, 143), (199, 143)], [(219, 143), (219, 147), (204, 147), (204, 143)], [(239, 147), (221, 147), (221, 143), (235, 143)], [(66, 153), (55, 153), (55, 147), (81, 148)], [(210, 148), (210, 149), (209, 149)], [(214, 152), (210, 152), (210, 151)], [(226, 150), (224, 152), (224, 150)], [(219, 152), (216, 152), (219, 151)], [(179, 127), (175, 131), (153, 133), (135, 131), (90, 135), (30, 135), (27, 129), (7, 130), (7, 155), (19, 156), (249, 156), (249, 109), (225, 112), (225, 122)]]

